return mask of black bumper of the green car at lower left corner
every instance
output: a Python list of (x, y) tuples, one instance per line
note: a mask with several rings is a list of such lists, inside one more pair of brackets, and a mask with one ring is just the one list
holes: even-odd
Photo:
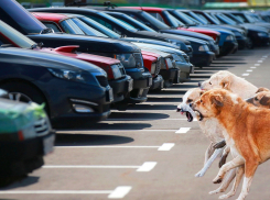
[(22, 142), (0, 142), (0, 177), (17, 177), (40, 168), (43, 156), (53, 151), (55, 133)]

